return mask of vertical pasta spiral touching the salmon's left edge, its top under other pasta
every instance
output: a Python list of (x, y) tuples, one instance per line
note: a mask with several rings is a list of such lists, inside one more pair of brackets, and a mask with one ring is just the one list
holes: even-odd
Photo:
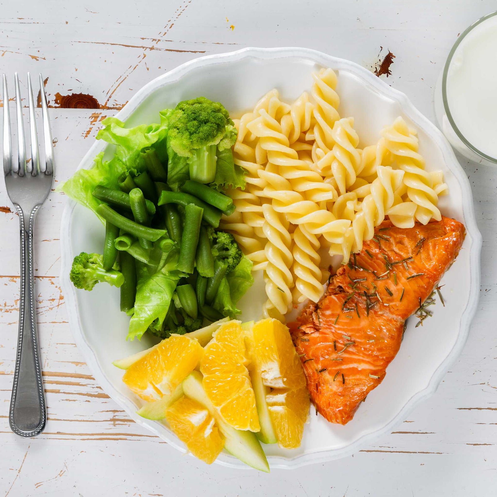
[(293, 233), (293, 273), (295, 275), (294, 302), (310, 299), (313, 302), (323, 296), (321, 283), (323, 273), (319, 268), (321, 257), (317, 252), (320, 247), (318, 237), (309, 233), (305, 226), (297, 226)]

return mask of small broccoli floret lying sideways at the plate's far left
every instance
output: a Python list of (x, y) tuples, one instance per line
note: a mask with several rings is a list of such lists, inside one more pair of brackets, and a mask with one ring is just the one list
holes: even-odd
[(112, 269), (105, 271), (103, 256), (98, 253), (81, 252), (77, 255), (73, 260), (69, 277), (76, 288), (88, 291), (100, 281), (117, 287), (124, 283), (124, 276), (119, 272), (119, 265), (116, 263)]

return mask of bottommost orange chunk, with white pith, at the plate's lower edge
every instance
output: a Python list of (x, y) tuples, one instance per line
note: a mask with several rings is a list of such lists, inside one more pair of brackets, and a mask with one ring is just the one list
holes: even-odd
[(224, 440), (214, 418), (198, 402), (182, 397), (167, 409), (166, 420), (188, 450), (207, 464), (212, 464), (223, 450)]

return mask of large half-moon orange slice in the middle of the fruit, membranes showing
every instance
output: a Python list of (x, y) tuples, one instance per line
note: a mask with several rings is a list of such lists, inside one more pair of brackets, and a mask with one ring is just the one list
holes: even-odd
[(259, 431), (255, 396), (247, 369), (245, 332), (239, 321), (222, 325), (205, 347), (202, 385), (221, 417), (233, 428)]

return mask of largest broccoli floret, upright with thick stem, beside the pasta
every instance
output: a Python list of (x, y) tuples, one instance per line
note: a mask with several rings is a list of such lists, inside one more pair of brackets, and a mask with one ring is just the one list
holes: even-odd
[(237, 133), (224, 106), (201, 96), (176, 105), (167, 141), (178, 156), (188, 158), (191, 179), (211, 183), (216, 176), (216, 148), (230, 148)]

